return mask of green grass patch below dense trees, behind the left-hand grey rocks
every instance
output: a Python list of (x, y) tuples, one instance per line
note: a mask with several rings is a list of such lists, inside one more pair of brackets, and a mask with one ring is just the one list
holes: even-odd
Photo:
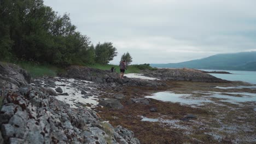
[(57, 76), (57, 74), (65, 73), (65, 69), (49, 64), (38, 64), (33, 62), (17, 62), (21, 68), (28, 71), (33, 78), (42, 76)]

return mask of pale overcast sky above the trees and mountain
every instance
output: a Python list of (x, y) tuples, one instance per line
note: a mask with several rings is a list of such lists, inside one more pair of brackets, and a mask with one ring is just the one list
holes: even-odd
[(44, 0), (92, 44), (112, 42), (132, 64), (177, 63), (256, 51), (254, 0)]

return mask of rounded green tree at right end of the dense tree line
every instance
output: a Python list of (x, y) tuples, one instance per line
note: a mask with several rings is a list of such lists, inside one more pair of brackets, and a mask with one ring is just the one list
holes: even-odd
[(100, 64), (108, 64), (117, 56), (117, 49), (112, 43), (98, 43), (95, 47), (95, 61)]

